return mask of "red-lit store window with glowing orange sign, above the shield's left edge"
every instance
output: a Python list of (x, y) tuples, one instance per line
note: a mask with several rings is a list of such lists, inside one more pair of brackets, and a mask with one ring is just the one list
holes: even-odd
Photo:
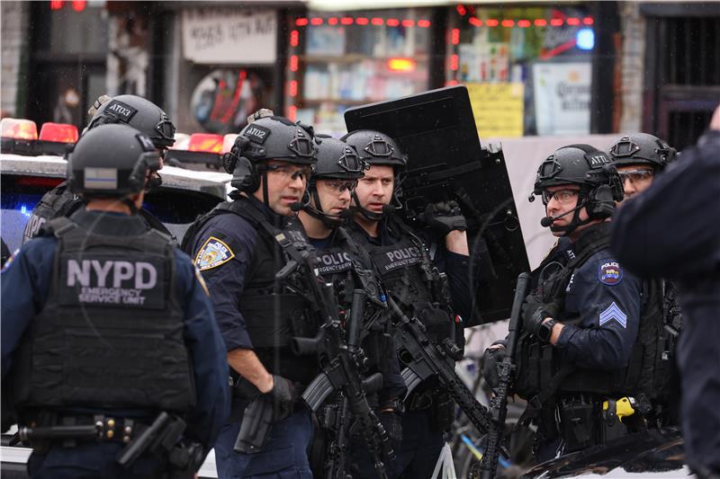
[(350, 106), (428, 90), (430, 13), (310, 12), (290, 19), (285, 114), (340, 136)]

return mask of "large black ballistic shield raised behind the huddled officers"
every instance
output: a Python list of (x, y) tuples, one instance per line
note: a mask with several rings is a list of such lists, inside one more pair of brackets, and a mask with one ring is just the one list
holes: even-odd
[(428, 203), (455, 200), (468, 220), (473, 318), (466, 325), (509, 317), (515, 280), (529, 270), (518, 210), (501, 146), (481, 146), (467, 89), (452, 86), (389, 102), (350, 108), (347, 131), (372, 129), (408, 155), (401, 183), (407, 220)]

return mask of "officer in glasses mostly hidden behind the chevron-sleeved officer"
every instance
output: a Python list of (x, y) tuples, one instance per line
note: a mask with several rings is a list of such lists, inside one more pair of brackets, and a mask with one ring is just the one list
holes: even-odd
[[(675, 160), (675, 148), (647, 133), (635, 133), (618, 138), (609, 149), (610, 159), (623, 180), (625, 196), (619, 205), (650, 188), (655, 176)], [(645, 290), (660, 291), (663, 297), (663, 333), (658, 345), (658, 378), (655, 415), (664, 425), (678, 423), (680, 383), (675, 366), (675, 344), (682, 329), (682, 312), (677, 301), (675, 283), (656, 278), (644, 281)]]

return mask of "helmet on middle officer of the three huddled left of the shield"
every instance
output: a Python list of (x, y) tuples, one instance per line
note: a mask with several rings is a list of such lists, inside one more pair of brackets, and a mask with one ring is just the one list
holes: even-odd
[(311, 180), (325, 178), (357, 180), (365, 176), (367, 164), (357, 155), (356, 149), (328, 135), (318, 135), (318, 163)]

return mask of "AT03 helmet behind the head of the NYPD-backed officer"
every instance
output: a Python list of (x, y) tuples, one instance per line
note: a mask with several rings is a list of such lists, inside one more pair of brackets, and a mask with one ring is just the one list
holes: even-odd
[(175, 143), (175, 125), (155, 103), (133, 94), (121, 94), (104, 102), (86, 130), (108, 123), (125, 123), (150, 138), (156, 148)]

